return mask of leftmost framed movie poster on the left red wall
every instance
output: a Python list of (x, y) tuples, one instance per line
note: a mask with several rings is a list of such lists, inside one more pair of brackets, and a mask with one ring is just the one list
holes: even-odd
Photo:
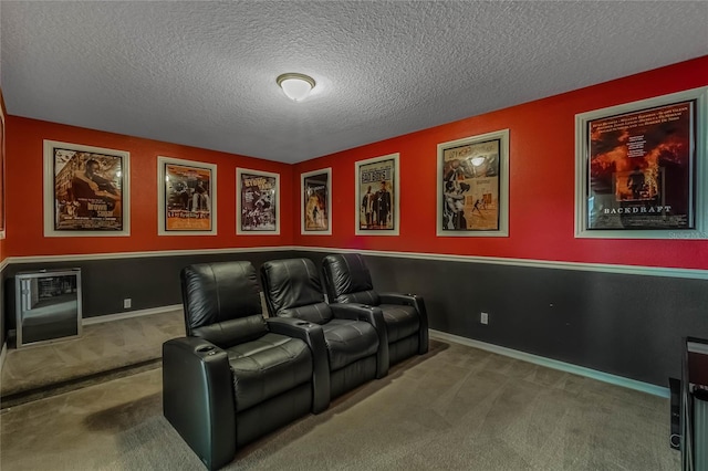
[(129, 153), (44, 140), (44, 237), (129, 236)]

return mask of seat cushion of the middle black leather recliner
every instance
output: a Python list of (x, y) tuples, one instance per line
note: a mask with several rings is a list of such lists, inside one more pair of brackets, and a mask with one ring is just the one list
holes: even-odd
[(378, 335), (374, 326), (366, 322), (333, 318), (322, 329), (331, 371), (375, 355), (378, 350)]

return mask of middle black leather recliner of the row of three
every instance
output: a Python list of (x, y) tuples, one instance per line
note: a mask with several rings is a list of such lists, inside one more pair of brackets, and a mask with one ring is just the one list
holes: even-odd
[[(261, 266), (271, 316), (322, 326), (332, 398), (388, 371), (388, 343), (381, 313), (354, 304), (325, 303), (320, 274), (310, 259), (272, 260)], [(376, 318), (376, 316), (378, 316)]]

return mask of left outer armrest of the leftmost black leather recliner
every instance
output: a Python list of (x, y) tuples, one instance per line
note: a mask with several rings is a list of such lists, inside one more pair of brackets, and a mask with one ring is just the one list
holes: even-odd
[(199, 337), (163, 344), (163, 414), (208, 469), (236, 456), (233, 398), (225, 350)]

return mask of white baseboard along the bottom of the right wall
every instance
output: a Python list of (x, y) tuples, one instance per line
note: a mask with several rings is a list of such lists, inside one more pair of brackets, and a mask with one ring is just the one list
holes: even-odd
[(604, 381), (611, 385), (635, 389), (642, 393), (664, 397), (667, 399), (670, 397), (669, 388), (663, 388), (660, 386), (652, 385), (648, 383), (637, 381), (636, 379), (629, 379), (629, 378), (625, 378), (617, 375), (611, 375), (610, 373), (597, 371), (596, 369), (585, 368), (583, 366), (559, 362), (556, 359), (545, 358), (545, 357), (529, 354), (525, 352), (514, 350), (512, 348), (500, 347), (499, 345), (488, 344), (486, 342), (479, 342), (479, 341), (473, 341), (471, 338), (460, 337), (459, 335), (452, 335), (452, 334), (447, 334), (445, 332), (430, 329), (430, 337), (445, 341), (445, 342), (454, 342), (460, 345), (467, 345), (469, 347), (475, 347), (475, 348), (479, 348), (487, 352), (492, 352), (499, 355), (508, 356), (508, 357), (520, 359), (523, 362), (533, 363), (535, 365), (545, 366), (548, 368), (572, 373), (574, 375), (597, 379), (598, 381)]

